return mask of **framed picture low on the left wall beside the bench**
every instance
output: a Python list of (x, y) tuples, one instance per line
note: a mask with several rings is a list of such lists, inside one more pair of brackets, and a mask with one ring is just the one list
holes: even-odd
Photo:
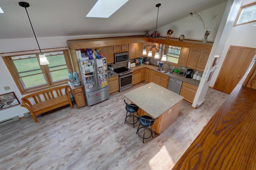
[(17, 99), (16, 95), (14, 92), (6, 93), (6, 94), (1, 94), (0, 95), (0, 110), (6, 109), (12, 106), (19, 105), (20, 102)]

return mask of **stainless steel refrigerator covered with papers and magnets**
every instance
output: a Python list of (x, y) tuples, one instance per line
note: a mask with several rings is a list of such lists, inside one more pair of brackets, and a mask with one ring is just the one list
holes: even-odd
[(79, 61), (88, 107), (109, 99), (106, 58)]

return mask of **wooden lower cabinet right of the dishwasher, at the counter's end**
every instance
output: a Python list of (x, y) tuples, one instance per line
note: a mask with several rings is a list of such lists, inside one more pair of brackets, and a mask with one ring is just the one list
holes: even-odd
[(194, 101), (194, 98), (196, 96), (197, 89), (198, 89), (198, 87), (193, 86), (192, 84), (183, 82), (181, 89), (180, 89), (180, 95), (184, 97), (183, 100), (192, 104)]

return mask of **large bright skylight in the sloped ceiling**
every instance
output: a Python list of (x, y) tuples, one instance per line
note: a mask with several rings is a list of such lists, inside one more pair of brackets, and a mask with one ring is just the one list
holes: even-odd
[(86, 17), (108, 18), (128, 0), (98, 0)]

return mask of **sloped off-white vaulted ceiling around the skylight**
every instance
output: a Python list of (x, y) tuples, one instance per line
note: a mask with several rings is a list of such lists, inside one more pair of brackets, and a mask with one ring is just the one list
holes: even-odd
[[(0, 0), (0, 39), (34, 37), (21, 0)], [(145, 33), (227, 0), (129, 0), (109, 18), (86, 18), (97, 0), (25, 0), (37, 37)], [(100, 12), (100, 11), (99, 11)]]

